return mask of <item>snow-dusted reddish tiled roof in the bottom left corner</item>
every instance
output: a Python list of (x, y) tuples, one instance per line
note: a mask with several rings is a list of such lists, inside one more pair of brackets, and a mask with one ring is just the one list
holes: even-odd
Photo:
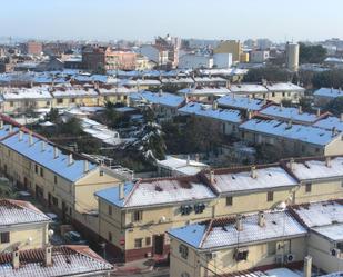
[(113, 270), (113, 266), (102, 259), (88, 246), (53, 246), (52, 265), (44, 266), (46, 249), (20, 250), (20, 267), (13, 269), (12, 254), (0, 254), (0, 276), (102, 276)]

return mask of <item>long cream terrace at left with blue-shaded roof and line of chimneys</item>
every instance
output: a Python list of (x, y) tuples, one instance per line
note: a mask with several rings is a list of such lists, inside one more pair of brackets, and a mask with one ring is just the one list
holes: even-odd
[[(69, 151), (24, 128), (0, 121), (0, 169), (63, 220), (98, 236), (94, 192), (124, 178), (85, 156)], [(2, 131), (1, 131), (2, 130)], [(95, 214), (94, 214), (95, 212)]]

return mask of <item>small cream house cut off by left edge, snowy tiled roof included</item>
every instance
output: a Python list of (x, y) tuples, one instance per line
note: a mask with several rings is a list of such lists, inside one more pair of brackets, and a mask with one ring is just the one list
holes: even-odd
[(30, 202), (0, 199), (0, 253), (46, 247), (50, 221)]

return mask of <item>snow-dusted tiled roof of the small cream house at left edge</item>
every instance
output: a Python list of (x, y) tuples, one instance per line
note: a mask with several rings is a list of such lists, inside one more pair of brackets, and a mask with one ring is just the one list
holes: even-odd
[(28, 201), (0, 199), (0, 229), (9, 225), (49, 221), (48, 216)]

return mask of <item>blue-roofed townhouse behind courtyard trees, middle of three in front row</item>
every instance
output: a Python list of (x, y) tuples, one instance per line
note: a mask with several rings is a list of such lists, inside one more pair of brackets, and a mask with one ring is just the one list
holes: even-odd
[(213, 101), (211, 105), (189, 102), (179, 109), (180, 115), (204, 118), (216, 122), (220, 131), (223, 135), (236, 135), (239, 132), (239, 125), (244, 119), (244, 113), (239, 110), (218, 108), (218, 102)]

